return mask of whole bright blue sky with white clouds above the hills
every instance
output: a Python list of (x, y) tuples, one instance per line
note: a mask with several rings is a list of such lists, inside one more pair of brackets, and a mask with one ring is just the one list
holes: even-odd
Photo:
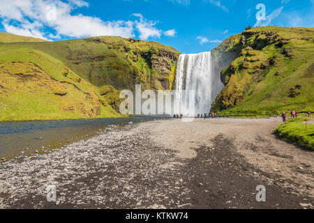
[[(257, 21), (259, 3), (266, 14)], [(198, 53), (248, 25), (313, 27), (313, 15), (314, 0), (0, 0), (0, 31), (54, 41), (123, 36)]]

